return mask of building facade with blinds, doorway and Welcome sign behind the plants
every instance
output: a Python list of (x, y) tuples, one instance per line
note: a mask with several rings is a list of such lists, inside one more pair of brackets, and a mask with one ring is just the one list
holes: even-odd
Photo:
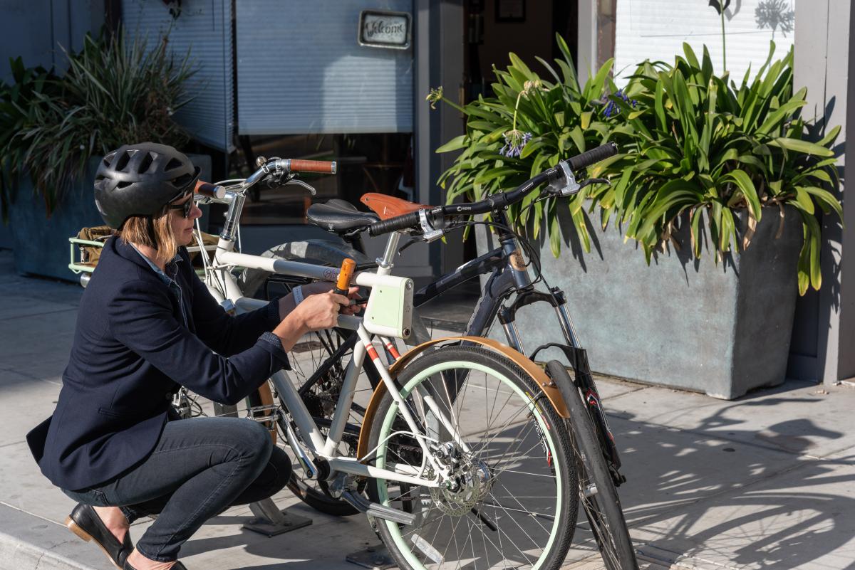
[[(846, 105), (855, 92), (850, 3), (723, 3), (734, 77), (762, 64), (769, 39), (779, 54), (794, 45), (795, 83), (808, 88), (811, 101), (805, 113), (843, 127), (845, 178), (845, 145), (855, 128), (848, 120), (855, 111)], [(373, 16), (366, 20), (365, 12)], [(724, 59), (720, 22), (702, 0), (10, 0), (3, 3), (0, 66), (10, 55), (23, 55), (27, 65), (61, 65), (56, 46), (80, 47), (82, 34), (105, 21), (150, 38), (165, 35), (175, 53), (190, 50), (199, 72), (179, 119), (221, 155), (223, 175), (246, 172), (262, 154), (334, 157), (337, 180), (313, 182), (321, 200), (356, 202), (365, 191), (380, 191), (445, 201), (436, 180), (451, 156), (434, 149), (462, 133), (464, 123), (452, 108), (431, 109), (428, 91), (442, 85), (446, 96), (470, 101), (488, 92), (492, 65), (503, 65), (509, 51), (524, 61), (551, 59), (555, 33), (575, 49), (583, 77), (615, 57), (619, 81), (633, 61), (673, 57), (684, 41), (707, 45), (716, 69)], [(371, 41), (366, 29), (379, 36)], [(8, 79), (8, 68), (0, 74)], [(307, 203), (302, 195), (260, 196), (245, 235), (256, 228), (259, 243), (274, 245), (280, 226), (302, 227)], [(844, 201), (846, 218), (853, 207)], [(799, 299), (788, 375), (833, 382), (855, 376), (855, 292), (848, 292), (855, 280), (846, 280), (843, 256), (852, 238), (834, 220), (823, 224), (823, 289)], [(399, 268), (426, 281), (472, 254), (472, 246), (454, 239), (418, 244)]]

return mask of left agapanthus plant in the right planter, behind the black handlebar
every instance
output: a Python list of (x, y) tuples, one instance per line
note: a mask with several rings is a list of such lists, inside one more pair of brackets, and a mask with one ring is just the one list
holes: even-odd
[[(504, 70), (493, 67), (497, 82), (492, 84), (495, 96), (479, 97), (465, 107), (449, 101), (442, 89), (433, 90), (428, 101), (445, 102), (468, 119), (466, 133), (451, 139), (437, 152), (463, 149), (439, 178), (447, 190), (447, 201), (463, 197), (481, 200), (485, 195), (514, 189), (528, 178), (609, 140), (614, 126), (599, 119), (604, 85), (611, 70), (607, 62), (587, 84), (581, 86), (573, 59), (563, 38), (557, 36), (562, 58), (552, 64), (537, 58), (548, 78), (534, 73), (516, 55), (510, 54), (510, 65)], [(607, 187), (587, 187), (572, 200), (547, 199), (534, 204), (529, 195), (521, 204), (511, 206), (509, 217), (520, 226), (531, 224), (534, 237), (548, 232), (552, 252), (561, 248), (557, 208), (569, 207), (576, 231), (587, 249), (590, 248), (585, 212), (586, 198)], [(529, 207), (531, 206), (531, 207)]]

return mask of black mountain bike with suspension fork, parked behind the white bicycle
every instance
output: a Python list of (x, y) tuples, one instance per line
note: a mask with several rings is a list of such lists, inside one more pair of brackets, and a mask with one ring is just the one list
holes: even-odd
[[(472, 204), (423, 206), (389, 196), (375, 195), (386, 206), (378, 208), (381, 212), (390, 210), (406, 212), (392, 218), (380, 219), (374, 213), (360, 212), (348, 202), (340, 200), (314, 204), (307, 212), (310, 222), (338, 235), (349, 244), (349, 247), (342, 250), (332, 242), (324, 241), (291, 242), (265, 253), (284, 259), (311, 259), (315, 263), (321, 261), (333, 266), (340, 265), (342, 258), (351, 257), (357, 259), (357, 270), (359, 270), (375, 266), (363, 253), (360, 236), (366, 230), (371, 236), (398, 231), (409, 235), (415, 241), (434, 241), (448, 231), (468, 225), (492, 226), (496, 231), (499, 246), (417, 291), (414, 295), (414, 305), (416, 307), (424, 305), (463, 282), (486, 275), (481, 298), (469, 320), (466, 334), (484, 336), (498, 318), (508, 344), (520, 352), (522, 352), (522, 342), (516, 328), (516, 311), (534, 303), (546, 303), (555, 311), (563, 332), (563, 342), (538, 346), (528, 354), (528, 357), (534, 360), (541, 351), (557, 348), (567, 358), (565, 364), (556, 360), (550, 361), (546, 370), (561, 391), (569, 409), (569, 423), (572, 427), (573, 447), (579, 471), (579, 497), (587, 515), (589, 524), (587, 530), (593, 534), (609, 570), (638, 567), (616, 492), (616, 487), (625, 481), (620, 473), (620, 457), (618, 457), (614, 437), (610, 432), (597, 387), (588, 366), (587, 352), (581, 347), (573, 327), (564, 294), (561, 289), (549, 287), (546, 284), (544, 277), (540, 274), (536, 252), (527, 240), (512, 230), (505, 211), (508, 206), (522, 201), (536, 189), (540, 189), (537, 200), (545, 200), (575, 195), (590, 183), (605, 183), (606, 181), (601, 179), (577, 182), (575, 172), (599, 160), (604, 160), (616, 152), (614, 143), (593, 148), (569, 160), (560, 161), (557, 166), (540, 173), (513, 191), (491, 195), (485, 200)], [(371, 201), (367, 197), (363, 197), (363, 201), (371, 206)], [(491, 214), (492, 222), (471, 220), (473, 215), (485, 213)], [(528, 275), (527, 265), (520, 251), (521, 246), (526, 248), (528, 258), (534, 265), (536, 274), (534, 280)], [(547, 290), (535, 289), (534, 285), (538, 282), (543, 282)], [(263, 287), (269, 294), (270, 290), (277, 285), (284, 286), (287, 290), (299, 283), (300, 280), (293, 277), (255, 273), (245, 276), (244, 290), (250, 294), (251, 291)], [(355, 341), (356, 335), (344, 330), (336, 331), (333, 335), (327, 333), (327, 337), (313, 341), (321, 356), (312, 359), (316, 368), (310, 375), (306, 375), (299, 391), (314, 406), (310, 406), (310, 409), (319, 416), (317, 418), (319, 425), (332, 411), (329, 404), (334, 404), (338, 399), (335, 388), (340, 385), (337, 379), (343, 375), (342, 358), (352, 349)], [(394, 358), (397, 355), (393, 353), (390, 356)], [(567, 372), (566, 365), (573, 369), (572, 378)], [(366, 360), (365, 372), (374, 387), (378, 376), (371, 368), (372, 365)], [(358, 411), (360, 408), (357, 406), (356, 409)], [(354, 422), (348, 427), (346, 433), (352, 433), (356, 439), (360, 418), (351, 417), (351, 419)], [(295, 474), (294, 477), (298, 478), (298, 475)], [(357, 512), (351, 505), (333, 497), (325, 486), (317, 486), (316, 482), (312, 484), (292, 481), (292, 490), (295, 489), (299, 489), (299, 497), (323, 512), (333, 515), (349, 515)]]

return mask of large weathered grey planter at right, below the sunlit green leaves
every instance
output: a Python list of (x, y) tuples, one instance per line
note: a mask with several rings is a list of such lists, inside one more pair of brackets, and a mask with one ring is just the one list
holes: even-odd
[[(592, 252), (584, 253), (569, 216), (561, 225), (563, 236), (573, 238), (563, 243), (561, 256), (556, 259), (546, 242), (538, 244), (540, 259), (547, 281), (567, 294), (592, 369), (738, 398), (785, 380), (802, 244), (799, 213), (789, 206), (785, 213), (779, 239), (778, 209), (767, 208), (751, 247), (718, 265), (709, 251), (692, 259), (687, 229), (675, 236), (681, 250), (657, 253), (650, 266), (613, 226), (591, 228)], [(486, 251), (493, 236), (481, 230), (477, 237), (480, 252)], [(527, 352), (561, 338), (542, 308), (527, 309), (517, 314)]]

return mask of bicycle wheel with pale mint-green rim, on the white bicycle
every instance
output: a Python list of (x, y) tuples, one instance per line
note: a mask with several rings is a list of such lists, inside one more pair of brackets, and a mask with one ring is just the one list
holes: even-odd
[[(372, 500), (416, 515), (411, 526), (377, 521), (398, 566), (560, 567), (575, 527), (575, 464), (563, 418), (531, 377), (495, 352), (445, 346), (407, 365), (397, 381), (433, 456), (451, 468), (440, 487), (369, 481)], [(430, 464), (388, 393), (370, 448), (380, 468)]]

